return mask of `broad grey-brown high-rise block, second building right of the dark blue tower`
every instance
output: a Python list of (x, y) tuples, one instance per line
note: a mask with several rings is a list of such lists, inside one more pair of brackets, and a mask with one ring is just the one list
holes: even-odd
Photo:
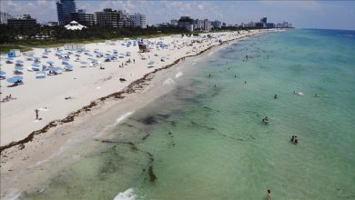
[(95, 15), (96, 25), (105, 28), (118, 28), (119, 14), (117, 10), (106, 8), (104, 11), (96, 12)]

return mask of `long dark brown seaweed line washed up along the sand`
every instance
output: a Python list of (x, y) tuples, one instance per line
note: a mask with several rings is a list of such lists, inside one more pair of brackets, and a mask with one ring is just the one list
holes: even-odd
[[(245, 36), (246, 37), (246, 36)], [(240, 37), (242, 38), (242, 37)], [(240, 39), (238, 38), (238, 39)], [(219, 45), (223, 45), (223, 44), (226, 44), (232, 40), (236, 40), (236, 39), (230, 39), (230, 40), (226, 40), (222, 43), (219, 43)], [(217, 45), (211, 45), (209, 46), (207, 49), (199, 52), (197, 55), (201, 55), (203, 54), (204, 52), (208, 51), (209, 49), (211, 49), (212, 47), (214, 46), (217, 46)], [(74, 118), (78, 115), (81, 115), (81, 114), (86, 114), (88, 111), (90, 111), (92, 108), (95, 108), (96, 105), (98, 105), (97, 103), (100, 103), (100, 102), (105, 102), (107, 99), (109, 98), (115, 98), (115, 99), (122, 99), (122, 98), (125, 98), (126, 94), (132, 94), (134, 92), (137, 91), (137, 89), (142, 89), (144, 88), (145, 85), (147, 85), (147, 81), (150, 81), (152, 79), (152, 77), (149, 77), (150, 75), (154, 75), (156, 74), (158, 71), (160, 70), (163, 70), (163, 69), (167, 69), (169, 67), (171, 67), (172, 65), (177, 65), (182, 59), (184, 58), (187, 58), (187, 57), (192, 57), (192, 56), (197, 56), (197, 55), (187, 55), (187, 56), (184, 56), (184, 57), (181, 57), (179, 59), (177, 59), (174, 63), (170, 64), (170, 65), (166, 65), (164, 67), (161, 67), (161, 68), (158, 68), (158, 69), (155, 69), (153, 72), (150, 72), (148, 73), (147, 75), (144, 75), (142, 78), (140, 79), (137, 79), (136, 81), (132, 82), (130, 85), (128, 85), (125, 89), (123, 89), (122, 91), (120, 92), (117, 92), (117, 93), (113, 93), (111, 95), (106, 95), (106, 96), (103, 96), (101, 98), (98, 98), (94, 101), (92, 101), (89, 105), (86, 105), (78, 110), (76, 110), (76, 112), (73, 112), (69, 115), (66, 116), (66, 118), (64, 119), (60, 119), (60, 120), (54, 120), (50, 123), (48, 123), (47, 125), (45, 125), (43, 128), (39, 129), (39, 130), (36, 130), (36, 131), (33, 131), (30, 135), (26, 136), (24, 139), (22, 140), (19, 140), (19, 141), (14, 141), (14, 142), (11, 142), (10, 144), (8, 145), (3, 145), (3, 146), (0, 146), (0, 155), (3, 153), (3, 151), (5, 149), (8, 149), (8, 148), (11, 148), (15, 145), (25, 145), (26, 143), (28, 142), (31, 142), (34, 138), (35, 138), (35, 135), (40, 135), (40, 134), (44, 134), (46, 133), (50, 128), (53, 128), (53, 127), (56, 127), (56, 125), (63, 125), (63, 124), (66, 124), (66, 123), (69, 123), (69, 122), (73, 122), (74, 121)]]

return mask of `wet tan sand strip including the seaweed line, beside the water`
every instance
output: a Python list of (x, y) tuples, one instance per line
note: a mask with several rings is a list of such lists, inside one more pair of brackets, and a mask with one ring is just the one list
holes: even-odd
[[(129, 112), (135, 112), (136, 110), (139, 110), (140, 107), (144, 107), (145, 106), (144, 104), (148, 104), (148, 102), (143, 102), (143, 100), (139, 100), (139, 97), (145, 96), (145, 98), (148, 98), (148, 101), (153, 101), (154, 98), (158, 97), (157, 95), (163, 95), (161, 94), (161, 91), (159, 91), (158, 88), (153, 88), (155, 86), (154, 83), (157, 82), (157, 80), (154, 79), (155, 78), (154, 75), (156, 75), (157, 72), (163, 71), (163, 69), (173, 69), (172, 66), (176, 66), (177, 64), (180, 64), (181, 61), (187, 57), (202, 55), (203, 53), (207, 52), (213, 47), (225, 45), (229, 42), (232, 43), (238, 42), (239, 40), (245, 39), (246, 37), (249, 36), (251, 35), (235, 38), (231, 40), (226, 40), (218, 45), (208, 46), (206, 49), (204, 49), (203, 51), (199, 52), (196, 55), (182, 56), (177, 60), (175, 60), (172, 64), (159, 67), (154, 71), (147, 73), (142, 78), (133, 81), (132, 83), (130, 83), (129, 85), (121, 89), (120, 91), (110, 95), (99, 97), (96, 100), (91, 101), (89, 105), (85, 105), (84, 107), (76, 110), (75, 112), (72, 112), (70, 115), (67, 115), (65, 118), (52, 121), (51, 123), (44, 126), (43, 128), (32, 132), (31, 135), (28, 135), (25, 139), (21, 141), (11, 143), (10, 145), (7, 145), (5, 147), (1, 146), (2, 150), (0, 156), (2, 157), (2, 163), (0, 168), (1, 168), (2, 175), (4, 175), (3, 176), (4, 178), (2, 178), (2, 183), (5, 182), (10, 183), (7, 186), (5, 185), (4, 187), (2, 186), (2, 191), (4, 191), (4, 193), (2, 193), (1, 196), (8, 197), (9, 193), (11, 193), (11, 190), (14, 188), (20, 189), (21, 191), (25, 191), (26, 189), (30, 189), (38, 183), (43, 183), (43, 181), (46, 180), (45, 178), (46, 175), (43, 175), (43, 177), (35, 177), (35, 175), (41, 174), (41, 170), (46, 168), (47, 165), (53, 165), (60, 168), (59, 165), (63, 166), (66, 165), (67, 162), (75, 162), (71, 160), (73, 159), (72, 157), (67, 155), (67, 154), (80, 155), (80, 153), (77, 153), (75, 150), (74, 151), (76, 153), (72, 154), (73, 152), (71, 151), (72, 150), (71, 145), (73, 144), (71, 144), (71, 142), (73, 141), (71, 140), (78, 139), (74, 137), (83, 136), (82, 132), (86, 132), (87, 129), (90, 130), (90, 128), (87, 128), (86, 126), (85, 128), (80, 127), (80, 125), (90, 124), (91, 121), (95, 121), (95, 119), (97, 118), (101, 119), (99, 117), (100, 115), (110, 115), (110, 114), (106, 114), (106, 112), (109, 113), (110, 108), (113, 106), (121, 108), (121, 112), (119, 112), (120, 116), (119, 118), (116, 119), (116, 121), (115, 121), (115, 117), (117, 117), (117, 113), (116, 115), (113, 115), (113, 117), (108, 117), (109, 120), (111, 121), (114, 120), (114, 123), (112, 122), (110, 123), (115, 124), (117, 123), (118, 119), (121, 120), (121, 118), (124, 118), (124, 116), (127, 115)], [(190, 66), (187, 67), (193, 69), (193, 67)], [(160, 74), (160, 75), (164, 75), (164, 74)], [(162, 83), (159, 84), (162, 85)], [(157, 87), (159, 87), (159, 85)], [(149, 92), (147, 90), (156, 90), (155, 91), (156, 94), (155, 95), (150, 94), (150, 97), (147, 97), (147, 93), (152, 93), (151, 91)], [(143, 91), (143, 94), (140, 94), (139, 91)], [(122, 99), (122, 101), (117, 102), (117, 100), (119, 99)], [(129, 108), (130, 110), (129, 109), (127, 110), (127, 107), (124, 106), (125, 104), (128, 105), (127, 107), (130, 107)], [(77, 117), (77, 116), (81, 116), (81, 117)], [(105, 121), (106, 124), (107, 121)], [(71, 122), (72, 124), (70, 124)], [(96, 121), (95, 123), (98, 124), (98, 122)], [(90, 127), (92, 130), (95, 126), (90, 125)], [(98, 129), (99, 132), (103, 132), (106, 129), (106, 127), (107, 126), (99, 126), (95, 128)], [(49, 134), (46, 135), (45, 133), (47, 132), (49, 132)], [(97, 145), (95, 140), (94, 141), (90, 140), (92, 139), (91, 135), (86, 135), (86, 134), (87, 133), (84, 134), (85, 137), (79, 138), (80, 140), (79, 142), (87, 143), (87, 145), (91, 145), (91, 146)], [(97, 135), (95, 137), (97, 137)], [(35, 153), (38, 150), (40, 152), (44, 151), (45, 153), (42, 152), (42, 155), (38, 154), (40, 152)], [(66, 154), (63, 154), (64, 151), (66, 151)], [(63, 162), (61, 161), (60, 163), (56, 164), (57, 162), (56, 158), (61, 156), (65, 156), (65, 159), (64, 160), (62, 159)], [(47, 176), (50, 176), (49, 174), (50, 172), (48, 173)], [(16, 182), (15, 180), (16, 178), (14, 179), (14, 177), (17, 176), (21, 177), (21, 182), (23, 183)]]

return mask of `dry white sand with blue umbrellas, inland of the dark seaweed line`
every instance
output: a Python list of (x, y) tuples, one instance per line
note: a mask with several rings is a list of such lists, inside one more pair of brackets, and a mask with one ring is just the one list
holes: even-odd
[[(67, 63), (73, 65), (72, 71), (64, 70), (60, 75), (48, 75), (45, 71), (45, 78), (36, 78), (35, 71), (29, 71), (34, 61), (28, 60), (25, 54), (15, 57), (14, 64), (6, 64), (3, 57), (1, 70), (5, 77), (14, 76), (16, 60), (23, 61), (23, 85), (10, 86), (6, 79), (1, 80), (1, 100), (6, 95), (13, 99), (1, 103), (1, 145), (8, 145), (11, 142), (24, 139), (27, 135), (38, 130), (49, 122), (61, 119), (99, 97), (118, 92), (147, 73), (166, 65), (171, 65), (177, 59), (187, 55), (197, 55), (212, 45), (218, 45), (220, 41), (227, 41), (242, 38), (248, 35), (258, 34), (258, 31), (250, 32), (224, 32), (219, 34), (208, 34), (198, 36), (173, 35), (160, 38), (152, 38), (147, 41), (151, 44), (149, 53), (139, 53), (137, 45), (127, 47), (127, 41), (111, 41), (111, 44), (98, 43), (85, 45), (86, 54), (93, 55), (98, 65), (90, 66), (89, 55), (77, 53), (76, 51), (56, 51), (56, 48), (36, 48), (31, 52), (34, 57), (39, 57), (38, 65), (47, 65), (47, 61), (53, 61), (54, 66), (62, 67), (63, 60), (56, 56), (69, 55)], [(194, 43), (195, 41), (195, 43)], [(198, 42), (197, 42), (198, 41)], [(133, 44), (133, 41), (131, 42)], [(166, 45), (160, 47), (161, 44)], [(46, 54), (45, 51), (47, 51)], [(106, 55), (114, 55), (117, 52), (117, 60), (105, 62)], [(103, 54), (97, 58), (95, 55)], [(127, 52), (130, 53), (127, 56)], [(84, 52), (85, 53), (85, 52)], [(128, 54), (129, 54), (128, 53)], [(26, 55), (29, 55), (27, 53)], [(106, 54), (106, 55), (105, 55)], [(45, 57), (47, 58), (43, 58)], [(82, 67), (81, 62), (87, 62)], [(127, 63), (130, 60), (130, 63)], [(119, 67), (123, 65), (124, 67)], [(105, 69), (100, 69), (99, 66)], [(148, 66), (153, 66), (148, 68)], [(41, 67), (38, 67), (42, 70)], [(36, 69), (36, 68), (35, 68)], [(60, 71), (59, 71), (60, 72)], [(124, 78), (127, 81), (120, 81)], [(35, 119), (35, 109), (38, 109), (40, 120)]]

